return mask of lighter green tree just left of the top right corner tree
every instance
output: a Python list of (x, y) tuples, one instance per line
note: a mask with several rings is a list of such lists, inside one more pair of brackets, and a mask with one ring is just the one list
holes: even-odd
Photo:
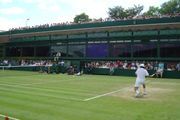
[(154, 6), (150, 6), (149, 10), (144, 13), (145, 16), (158, 16), (159, 14), (159, 8)]

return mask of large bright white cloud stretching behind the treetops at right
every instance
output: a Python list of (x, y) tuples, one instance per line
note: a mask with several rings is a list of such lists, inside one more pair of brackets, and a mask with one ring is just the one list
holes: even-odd
[(143, 12), (149, 9), (149, 6), (159, 6), (168, 0), (60, 0), (67, 3), (73, 9), (74, 15), (85, 12), (90, 18), (108, 17), (108, 8), (122, 6), (123, 8), (133, 7), (134, 5), (143, 5)]

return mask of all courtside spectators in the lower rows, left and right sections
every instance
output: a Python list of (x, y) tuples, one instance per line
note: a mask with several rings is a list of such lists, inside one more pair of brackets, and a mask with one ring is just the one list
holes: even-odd
[[(57, 62), (55, 62), (57, 63)], [(147, 70), (157, 70), (163, 67), (167, 71), (180, 71), (180, 62), (165, 63), (161, 61), (93, 61), (85, 64), (85, 68), (114, 68), (114, 69), (131, 69), (136, 70), (141, 63), (144, 63)], [(52, 66), (52, 60), (1, 60), (0, 66)], [(65, 61), (58, 64), (65, 65)], [(70, 66), (70, 65), (69, 65)]]

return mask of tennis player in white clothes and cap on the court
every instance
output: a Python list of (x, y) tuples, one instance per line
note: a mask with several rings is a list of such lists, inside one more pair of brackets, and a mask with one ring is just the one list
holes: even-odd
[(148, 71), (146, 69), (144, 69), (144, 64), (140, 64), (139, 65), (140, 68), (138, 68), (135, 72), (137, 78), (136, 78), (136, 83), (134, 86), (134, 90), (136, 92), (136, 97), (138, 97), (138, 95), (140, 94), (140, 91), (138, 90), (138, 88), (140, 87), (140, 85), (143, 85), (143, 94), (146, 95), (146, 85), (145, 85), (145, 77), (152, 77), (152, 75), (149, 75)]

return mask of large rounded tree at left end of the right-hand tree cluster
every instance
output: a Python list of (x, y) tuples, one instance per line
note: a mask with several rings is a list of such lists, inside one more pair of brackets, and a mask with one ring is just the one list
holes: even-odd
[(115, 6), (114, 8), (109, 8), (109, 17), (113, 19), (123, 19), (127, 17), (125, 9), (121, 6)]

